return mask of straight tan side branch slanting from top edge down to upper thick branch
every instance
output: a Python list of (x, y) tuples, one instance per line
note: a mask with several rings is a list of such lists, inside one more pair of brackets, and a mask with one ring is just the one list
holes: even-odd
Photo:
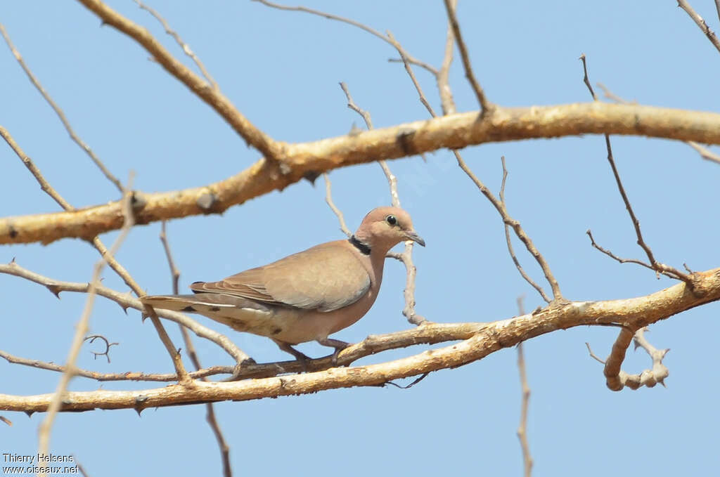
[(230, 99), (190, 71), (179, 60), (176, 60), (153, 35), (150, 35), (148, 29), (131, 22), (100, 0), (78, 1), (102, 19), (103, 23), (109, 24), (111, 27), (125, 33), (132, 40), (140, 43), (168, 73), (184, 83), (190, 91), (205, 101), (208, 106), (215, 109), (217, 114), (220, 114), (220, 117), (225, 119), (233, 127), (233, 130), (246, 140), (248, 145), (256, 147), (266, 158), (272, 160), (283, 159), (281, 143), (274, 141), (264, 132), (258, 130), (235, 108)]

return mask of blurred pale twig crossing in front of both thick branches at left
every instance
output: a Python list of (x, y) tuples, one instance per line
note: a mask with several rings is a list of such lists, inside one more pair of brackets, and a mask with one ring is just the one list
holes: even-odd
[[(125, 238), (130, 233), (130, 229), (132, 229), (132, 225), (135, 224), (135, 216), (132, 212), (132, 193), (130, 192), (132, 190), (132, 173), (130, 174), (130, 179), (127, 181), (127, 189), (125, 190), (124, 198), (123, 198), (123, 214), (125, 214), (125, 225), (123, 225), (122, 230), (120, 231), (120, 235), (118, 235), (117, 239), (115, 239), (115, 242), (112, 244), (112, 247), (110, 247), (109, 255), (114, 256), (115, 253), (117, 253), (117, 250), (120, 248), (120, 245), (122, 245), (122, 242), (125, 241)], [(96, 287), (99, 285), (100, 281), (100, 275), (102, 273), (103, 268), (107, 265), (106, 258), (101, 258), (100, 260), (95, 263), (92, 278), (90, 281), (90, 286), (87, 294), (87, 298), (85, 301), (85, 307), (83, 310), (83, 313), (81, 314), (80, 319), (78, 320), (78, 324), (76, 324), (76, 330), (75, 335), (73, 337), (73, 340), (71, 342), (70, 351), (68, 352), (68, 358), (66, 360), (66, 371), (63, 373), (63, 375), (60, 377), (60, 382), (58, 383), (57, 389), (55, 389), (55, 393), (53, 394), (53, 399), (50, 401), (50, 405), (48, 406), (48, 415), (45, 417), (45, 419), (42, 420), (40, 423), (40, 429), (38, 431), (39, 436), (39, 443), (37, 446), (37, 453), (38, 455), (47, 455), (50, 445), (50, 430), (53, 427), (53, 422), (55, 422), (55, 416), (58, 414), (58, 411), (60, 410), (60, 407), (63, 403), (63, 398), (65, 396), (66, 390), (68, 389), (68, 383), (70, 383), (71, 379), (73, 378), (73, 375), (75, 373), (75, 363), (78, 358), (78, 354), (80, 353), (80, 348), (83, 345), (83, 342), (85, 341), (85, 335), (88, 330), (88, 322), (90, 320), (90, 314), (92, 312), (94, 303), (95, 303), (95, 296), (96, 296)], [(46, 475), (44, 471), (40, 473), (40, 475)]]

